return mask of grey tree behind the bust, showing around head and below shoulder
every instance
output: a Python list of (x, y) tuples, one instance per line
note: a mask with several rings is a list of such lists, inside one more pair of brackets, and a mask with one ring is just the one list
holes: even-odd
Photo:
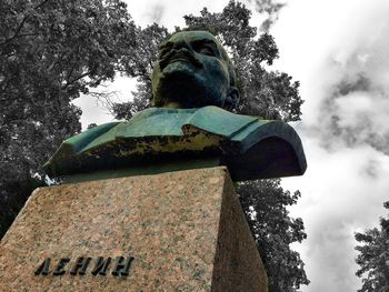
[[(292, 82), (287, 73), (266, 70), (265, 66), (271, 66), (278, 58), (278, 49), (269, 33), (257, 36), (256, 28), (249, 26), (250, 13), (243, 4), (230, 1), (220, 13), (210, 13), (205, 8), (200, 17), (190, 14), (184, 20), (189, 28), (211, 31), (228, 49), (236, 64), (241, 94), (235, 112), (265, 119), (300, 120), (299, 83)], [(158, 43), (168, 32), (152, 24), (140, 30), (139, 36), (146, 41), (139, 53), (142, 57), (138, 67), (141, 70), (137, 69), (139, 85), (133, 101), (113, 103), (111, 111), (117, 119), (130, 119), (138, 110), (149, 107), (150, 72), (157, 60)], [(299, 254), (289, 248), (290, 243), (301, 242), (307, 236), (302, 220), (289, 218), (286, 209), (297, 202), (299, 192), (283, 191), (280, 180), (239, 183), (238, 192), (269, 274), (269, 291), (296, 291), (301, 284), (308, 284)]]

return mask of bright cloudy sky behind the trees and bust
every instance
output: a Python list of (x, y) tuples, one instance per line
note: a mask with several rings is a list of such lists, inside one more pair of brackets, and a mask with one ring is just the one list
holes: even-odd
[[(157, 21), (172, 29), (182, 16), (207, 7), (219, 12), (228, 0), (128, 0), (137, 24)], [(246, 1), (242, 1), (246, 2)], [(247, 3), (247, 2), (246, 2)], [(252, 8), (251, 3), (247, 3)], [(308, 239), (293, 245), (311, 283), (303, 292), (348, 292), (355, 275), (355, 232), (378, 225), (389, 201), (389, 1), (289, 0), (270, 33), (280, 58), (271, 69), (300, 81), (305, 100), (301, 137), (308, 170), (282, 180), (302, 198), (290, 212), (303, 219)], [(262, 17), (253, 14), (252, 26)], [(118, 100), (134, 82), (118, 79)], [(83, 127), (112, 118), (92, 99), (76, 102)]]

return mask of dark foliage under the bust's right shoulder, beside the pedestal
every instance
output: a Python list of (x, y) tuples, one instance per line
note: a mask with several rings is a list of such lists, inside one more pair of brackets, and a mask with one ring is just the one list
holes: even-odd
[(237, 191), (267, 268), (269, 291), (293, 292), (309, 284), (299, 253), (289, 248), (307, 238), (302, 220), (290, 218), (287, 210), (300, 192), (282, 190), (279, 179), (241, 183)]

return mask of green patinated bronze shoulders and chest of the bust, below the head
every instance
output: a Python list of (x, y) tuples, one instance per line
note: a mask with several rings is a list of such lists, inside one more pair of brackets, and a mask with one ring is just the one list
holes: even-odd
[[(303, 173), (295, 130), (282, 121), (241, 115), (217, 107), (151, 108), (72, 137), (43, 165), (49, 175), (138, 165), (149, 159), (218, 157), (235, 180)], [(280, 167), (282, 165), (282, 167)]]

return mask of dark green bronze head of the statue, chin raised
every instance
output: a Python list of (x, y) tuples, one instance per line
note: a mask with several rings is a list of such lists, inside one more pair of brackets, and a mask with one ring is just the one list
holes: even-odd
[(229, 110), (239, 98), (232, 62), (208, 31), (180, 31), (164, 41), (151, 84), (154, 107)]

